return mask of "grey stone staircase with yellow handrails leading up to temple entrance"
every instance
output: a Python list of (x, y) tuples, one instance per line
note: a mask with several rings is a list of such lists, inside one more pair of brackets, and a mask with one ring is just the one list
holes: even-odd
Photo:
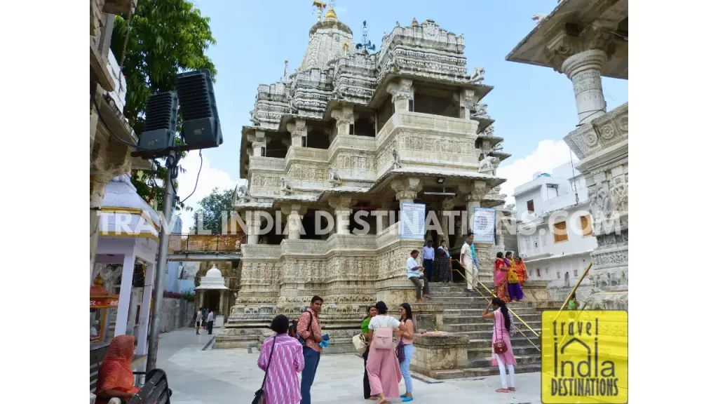
[[(432, 306), (442, 308), (443, 324), (437, 326), (439, 331), (456, 334), (465, 334), (470, 343), (467, 349), (469, 366), (466, 369), (452, 369), (437, 371), (438, 379), (451, 379), (457, 377), (479, 377), (498, 375), (498, 367), (491, 365), (491, 339), (493, 336), (493, 321), (483, 320), (481, 314), (488, 305), (488, 301), (479, 293), (467, 290), (465, 283), (444, 285), (432, 283)], [(487, 295), (488, 293), (484, 293)], [(421, 306), (421, 305), (417, 305)], [(541, 313), (536, 311), (531, 302), (508, 303), (508, 307), (523, 321), (526, 321), (537, 332), (541, 329)], [(419, 311), (421, 308), (419, 308)], [(516, 327), (530, 337), (536, 346), (541, 347), (540, 339), (521, 321), (516, 320)], [(427, 330), (429, 331), (429, 330)], [(540, 372), (541, 354), (534, 348), (521, 333), (511, 338), (513, 354), (516, 357), (516, 373)]]

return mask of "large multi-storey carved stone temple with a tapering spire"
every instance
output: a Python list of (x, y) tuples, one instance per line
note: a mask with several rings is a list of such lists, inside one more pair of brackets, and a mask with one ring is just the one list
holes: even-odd
[[(353, 352), (368, 303), (437, 310), (436, 303), (414, 305), (406, 259), (423, 241), (400, 237), (401, 203), (424, 203), (441, 228), (425, 239), (434, 246), (446, 239), (458, 257), (471, 218), (443, 212), (503, 206), (505, 180), (495, 170), (510, 156), (482, 103), (493, 87), (483, 83), (482, 68), (467, 70), (464, 49), (463, 35), (414, 19), (397, 22), (369, 52), (330, 7), (309, 29), (299, 68), (258, 87), (251, 125), (242, 129), (248, 185), (234, 204), (248, 239), (235, 304), (215, 347), (261, 341), (277, 313), (297, 318), (313, 295), (324, 298), (327, 353)], [(356, 234), (357, 211), (376, 215), (367, 217), (366, 234)], [(394, 216), (377, 214), (387, 211)], [(330, 231), (321, 234), (316, 223)], [(494, 244), (475, 244), (487, 285)]]

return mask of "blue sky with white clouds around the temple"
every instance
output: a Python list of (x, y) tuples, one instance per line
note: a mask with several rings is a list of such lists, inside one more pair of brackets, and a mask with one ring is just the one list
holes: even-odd
[[(187, 202), (192, 204), (214, 186), (232, 185), (239, 175), (241, 128), (249, 124), (257, 86), (279, 81), (284, 60), (289, 73), (304, 57), (309, 28), (317, 21), (311, 0), (195, 0), (202, 15), (210, 17), (217, 45), (208, 50), (218, 76), (215, 95), (219, 107), (224, 144), (202, 152), (200, 183)], [(331, 1), (327, 1), (328, 4)], [(348, 24), (354, 41), (361, 40), (363, 20), (368, 37), (381, 44), (384, 32), (398, 21), (434, 19), (444, 29), (466, 38), (465, 56), (469, 72), (486, 69), (485, 84), (495, 88), (484, 102), (496, 119), (495, 134), (503, 137), (505, 152), (513, 156), (503, 162), (498, 175), (508, 178), (502, 193), (531, 180), (537, 170), (569, 161), (563, 137), (577, 124), (572, 83), (566, 75), (550, 68), (511, 63), (505, 60), (535, 22), (531, 15), (549, 13), (556, 0), (337, 0), (338, 19)], [(608, 109), (628, 101), (628, 81), (603, 78)], [(180, 176), (180, 197), (185, 198), (197, 178), (199, 158), (191, 153), (182, 162), (187, 173)], [(191, 214), (182, 214), (188, 229)]]

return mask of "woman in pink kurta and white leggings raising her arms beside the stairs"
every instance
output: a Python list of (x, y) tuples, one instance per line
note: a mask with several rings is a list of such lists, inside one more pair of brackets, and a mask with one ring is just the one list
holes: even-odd
[[(489, 308), (493, 306), (493, 311), (489, 313)], [(488, 306), (484, 309), (484, 313), (481, 318), (484, 320), (493, 320), (494, 329), (493, 337), (491, 339), (491, 364), (498, 366), (499, 374), (501, 375), (501, 388), (496, 392), (510, 392), (516, 391), (516, 387), (513, 386), (514, 372), (513, 367), (516, 366), (516, 358), (513, 357), (513, 349), (511, 348), (511, 329), (513, 328), (513, 317), (506, 308), (506, 303), (500, 298), (493, 298)], [(493, 346), (496, 341), (503, 340), (506, 344), (506, 352), (503, 354), (497, 354), (494, 352)], [(506, 383), (506, 369), (504, 365), (508, 367), (508, 385)]]

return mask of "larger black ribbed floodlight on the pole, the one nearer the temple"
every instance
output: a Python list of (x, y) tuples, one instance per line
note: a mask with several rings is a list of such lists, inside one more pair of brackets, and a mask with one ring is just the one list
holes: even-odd
[(201, 69), (175, 76), (182, 108), (182, 138), (188, 150), (222, 144), (215, 91), (210, 70)]

